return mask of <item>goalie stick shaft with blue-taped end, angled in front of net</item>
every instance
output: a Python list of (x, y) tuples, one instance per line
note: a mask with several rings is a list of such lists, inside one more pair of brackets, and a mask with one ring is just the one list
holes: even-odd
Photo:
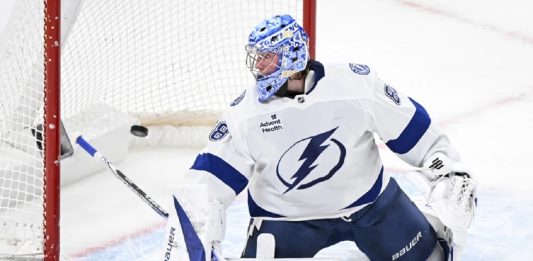
[(98, 159), (104, 163), (111, 172), (117, 177), (119, 180), (121, 180), (128, 188), (130, 188), (137, 196), (139, 196), (146, 204), (148, 204), (157, 214), (159, 214), (161, 217), (167, 219), (168, 218), (168, 212), (166, 212), (159, 204), (157, 204), (152, 198), (150, 198), (146, 192), (144, 192), (141, 188), (139, 188), (135, 183), (133, 183), (124, 173), (122, 173), (120, 170), (115, 168), (109, 160), (107, 160), (104, 155), (102, 155), (100, 152), (98, 152), (89, 142), (87, 142), (81, 135), (76, 138), (76, 143), (80, 145), (89, 155), (91, 155), (93, 158)]

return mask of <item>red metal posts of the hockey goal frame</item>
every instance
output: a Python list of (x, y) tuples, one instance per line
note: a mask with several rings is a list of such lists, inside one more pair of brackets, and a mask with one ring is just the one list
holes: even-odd
[[(44, 0), (44, 260), (60, 258), (61, 0)], [(303, 1), (303, 27), (315, 58), (316, 0)]]

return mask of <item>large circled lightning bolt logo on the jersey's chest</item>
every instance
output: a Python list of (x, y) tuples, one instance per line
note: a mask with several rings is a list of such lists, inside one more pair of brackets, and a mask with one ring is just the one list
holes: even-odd
[[(293, 189), (306, 189), (326, 181), (342, 167), (346, 157), (346, 148), (338, 140), (330, 139), (337, 128), (301, 139), (283, 153), (278, 161), (276, 174), (287, 187), (284, 193)], [(324, 154), (329, 156), (324, 156)], [(337, 156), (337, 154), (336, 161), (330, 160), (331, 155)], [(300, 155), (299, 158), (297, 155)], [(323, 160), (318, 160), (321, 155)], [(315, 170), (317, 167), (318, 169)]]

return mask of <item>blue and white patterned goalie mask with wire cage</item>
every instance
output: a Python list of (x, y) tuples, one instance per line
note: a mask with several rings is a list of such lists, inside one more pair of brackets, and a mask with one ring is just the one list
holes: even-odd
[(266, 101), (291, 75), (305, 70), (307, 40), (307, 33), (290, 15), (266, 19), (250, 33), (246, 66), (257, 81), (259, 101)]

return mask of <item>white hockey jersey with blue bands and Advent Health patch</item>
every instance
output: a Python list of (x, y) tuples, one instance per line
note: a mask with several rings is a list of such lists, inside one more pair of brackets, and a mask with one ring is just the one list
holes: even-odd
[(225, 206), (248, 188), (252, 217), (306, 220), (350, 215), (383, 191), (374, 133), (413, 166), (436, 152), (454, 160), (426, 110), (368, 66), (312, 61), (311, 70), (306, 93), (293, 98), (260, 103), (255, 86), (243, 92), (188, 175)]

